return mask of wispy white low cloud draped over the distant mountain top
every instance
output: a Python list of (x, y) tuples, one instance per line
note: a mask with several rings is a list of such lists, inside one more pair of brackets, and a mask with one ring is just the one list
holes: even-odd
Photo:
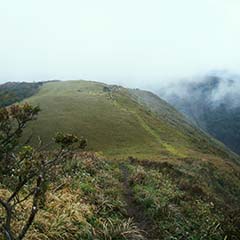
[(224, 104), (232, 109), (240, 107), (240, 76), (227, 71), (213, 71), (204, 76), (159, 87), (158, 93), (170, 102), (194, 102), (202, 99), (208, 101), (211, 107), (216, 108)]

